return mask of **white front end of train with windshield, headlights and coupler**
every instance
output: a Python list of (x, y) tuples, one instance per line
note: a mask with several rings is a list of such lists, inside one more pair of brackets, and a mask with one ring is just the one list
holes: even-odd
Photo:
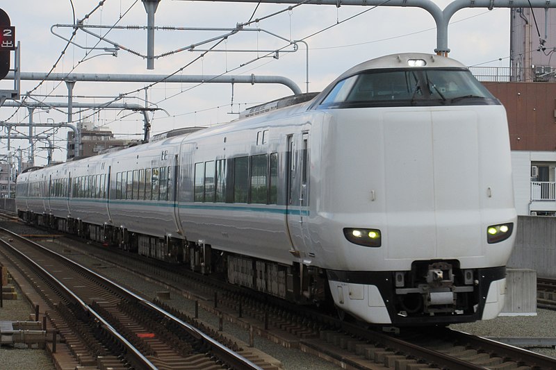
[(498, 99), (459, 62), (409, 53), (350, 69), (313, 109), (328, 118), (311, 234), (338, 308), (394, 325), (496, 317), (516, 230)]

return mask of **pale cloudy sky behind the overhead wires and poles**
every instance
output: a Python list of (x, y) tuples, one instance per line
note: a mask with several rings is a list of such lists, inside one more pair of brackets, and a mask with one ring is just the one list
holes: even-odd
[[(450, 1), (434, 1), (441, 9)], [(284, 76), (300, 89), (320, 91), (339, 74), (360, 62), (392, 53), (434, 53), (436, 26), (432, 16), (420, 8), (388, 6), (316, 6), (303, 4), (288, 10), (286, 4), (223, 3), (218, 1), (161, 0), (155, 15), (158, 27), (189, 28), (185, 31), (157, 30), (155, 55), (177, 51), (191, 44), (208, 42), (195, 51), (181, 51), (157, 58), (154, 69), (147, 61), (124, 49), (113, 56), (84, 31), (77, 31), (72, 44), (74, 19), (86, 29), (141, 55), (147, 53), (147, 33), (143, 29), (110, 28), (147, 24), (147, 13), (140, 0), (18, 0), (2, 1), (2, 8), (15, 26), (21, 43), (21, 71), (63, 74), (133, 74), (133, 75), (242, 75)], [(99, 6), (102, 4), (101, 6)], [(269, 17), (267, 17), (269, 16)], [(226, 40), (217, 37), (227, 31), (206, 28), (234, 28), (252, 22)], [(105, 26), (100, 28), (98, 26)], [(191, 29), (193, 28), (193, 30)], [(199, 29), (203, 28), (203, 30)], [(54, 33), (58, 34), (55, 35)], [(312, 36), (311, 36), (312, 35)], [(60, 37), (61, 36), (61, 37)], [(66, 39), (66, 40), (64, 40)], [(294, 52), (290, 40), (298, 43)], [(217, 44), (218, 43), (218, 44)], [(290, 46), (288, 46), (290, 45)], [(92, 50), (97, 47), (101, 49)], [(450, 58), (464, 65), (509, 66), (509, 10), (494, 8), (464, 9), (452, 17), (448, 27)], [(204, 51), (213, 48), (213, 51)], [(275, 58), (277, 49), (282, 49)], [(218, 50), (218, 51), (216, 51)], [(204, 55), (203, 55), (204, 54)], [(307, 58), (309, 54), (309, 58)], [(13, 56), (13, 54), (12, 54)], [(13, 58), (12, 58), (13, 59)], [(54, 69), (53, 69), (54, 67)], [(309, 69), (307, 79), (306, 69)], [(74, 86), (74, 102), (104, 103), (121, 97), (119, 103), (145, 106), (145, 87), (149, 83), (86, 83)], [(0, 89), (12, 89), (13, 81), (0, 81)], [(44, 103), (67, 102), (67, 87), (56, 81), (22, 81), (22, 97)], [(151, 135), (188, 126), (213, 126), (238, 117), (237, 112), (266, 101), (291, 95), (291, 90), (277, 84), (229, 83), (158, 83), (147, 89), (147, 105), (159, 108), (149, 113)], [(26, 108), (0, 108), (0, 120), (27, 123)], [(92, 126), (111, 130), (117, 138), (140, 139), (143, 117), (125, 110), (83, 110), (74, 108), (72, 123), (87, 121)], [(64, 109), (36, 109), (35, 123), (66, 123)], [(19, 131), (28, 134), (28, 128)], [(44, 131), (44, 133), (43, 133)], [(54, 143), (54, 160), (66, 157), (67, 128), (35, 129), (35, 134), (49, 135)], [(4, 131), (3, 135), (6, 135)], [(28, 160), (29, 144), (11, 140), (11, 151), (20, 148)], [(46, 143), (37, 144), (35, 163), (46, 164)], [(0, 140), (0, 157), (8, 154), (6, 139)]]

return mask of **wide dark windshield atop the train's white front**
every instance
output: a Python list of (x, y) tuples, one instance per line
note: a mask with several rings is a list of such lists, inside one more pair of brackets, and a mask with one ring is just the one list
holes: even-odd
[(339, 81), (320, 108), (500, 104), (467, 69), (380, 69)]

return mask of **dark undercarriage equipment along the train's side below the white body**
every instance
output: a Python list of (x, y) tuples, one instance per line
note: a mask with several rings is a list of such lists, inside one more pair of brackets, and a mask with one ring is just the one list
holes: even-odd
[(219, 274), (228, 283), (270, 294), (300, 304), (314, 304), (329, 299), (327, 276), (318, 267), (294, 262), (279, 264), (213, 249), (210, 244), (197, 244), (176, 237), (153, 237), (108, 224), (95, 225), (81, 219), (60, 218), (20, 212), (28, 224), (58, 230), (138, 253), (148, 258), (183, 264), (199, 274)]

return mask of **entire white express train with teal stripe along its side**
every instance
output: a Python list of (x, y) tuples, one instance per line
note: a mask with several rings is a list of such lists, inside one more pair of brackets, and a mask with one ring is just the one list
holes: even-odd
[(370, 323), (496, 317), (516, 228), (500, 102), (423, 53), (364, 62), (311, 97), (26, 171), (17, 210)]

